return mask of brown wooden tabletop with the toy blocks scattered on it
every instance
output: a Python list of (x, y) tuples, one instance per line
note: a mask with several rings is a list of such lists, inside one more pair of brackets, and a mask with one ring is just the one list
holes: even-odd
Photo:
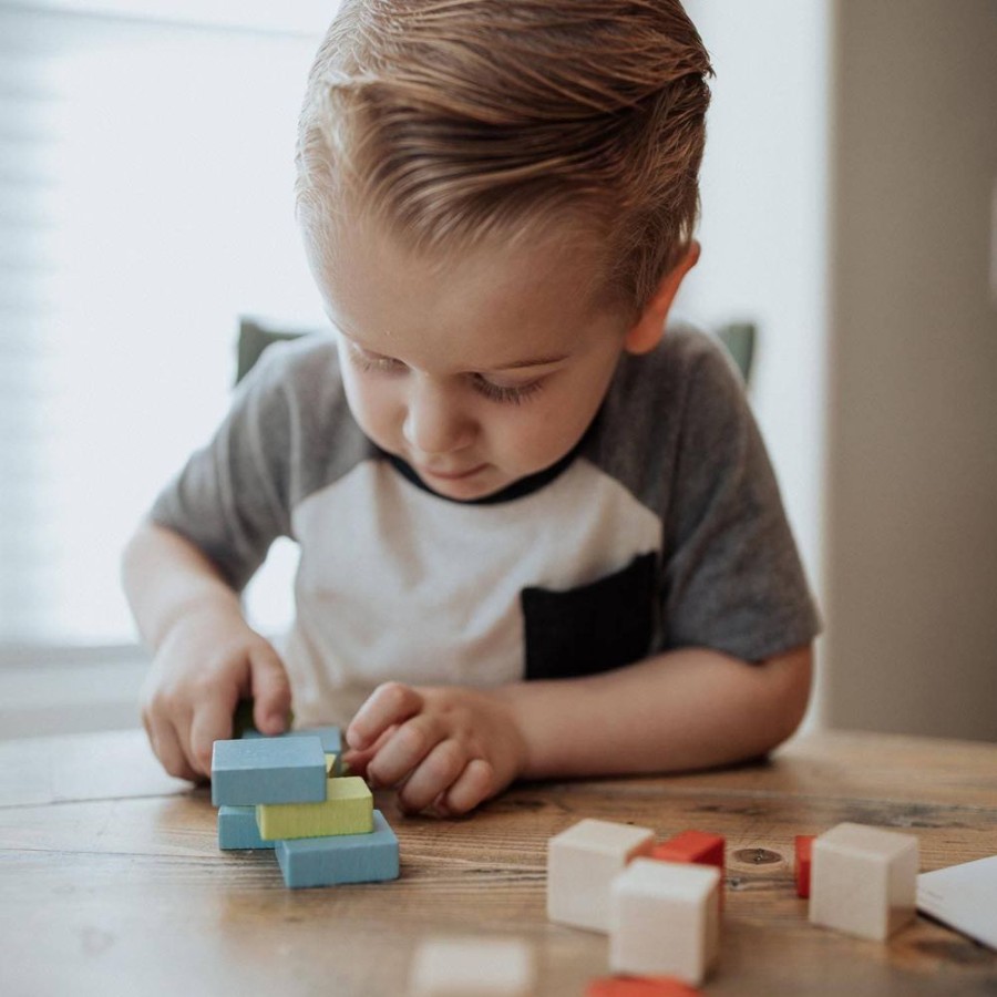
[(0, 742), (0, 993), (393, 997), (420, 939), (470, 933), (526, 939), (538, 994), (580, 995), (607, 941), (547, 922), (545, 847), (596, 816), (727, 836), (708, 994), (997, 994), (997, 954), (923, 917), (885, 945), (811, 927), (792, 870), (793, 835), (839, 821), (915, 833), (923, 871), (994, 854), (997, 744), (821, 734), (721, 772), (516, 787), (462, 821), (378, 805), (398, 882), (290, 891), (273, 853), (217, 850), (208, 793), (141, 733)]

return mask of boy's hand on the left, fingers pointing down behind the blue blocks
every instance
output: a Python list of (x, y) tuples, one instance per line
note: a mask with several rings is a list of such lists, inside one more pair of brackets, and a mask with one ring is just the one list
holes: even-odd
[(212, 750), (232, 737), (240, 698), (253, 697), (261, 733), (280, 733), (290, 709), (287, 672), (274, 647), (237, 611), (205, 607), (167, 631), (142, 690), (142, 722), (171, 775), (210, 775)]

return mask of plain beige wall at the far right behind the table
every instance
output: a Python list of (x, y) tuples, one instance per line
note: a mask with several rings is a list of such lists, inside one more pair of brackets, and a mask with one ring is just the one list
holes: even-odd
[(824, 720), (997, 739), (997, 3), (833, 31)]

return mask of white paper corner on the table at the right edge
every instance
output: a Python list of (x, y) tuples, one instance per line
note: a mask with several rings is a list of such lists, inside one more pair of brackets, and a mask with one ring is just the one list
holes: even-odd
[(997, 949), (997, 855), (922, 873), (917, 907)]

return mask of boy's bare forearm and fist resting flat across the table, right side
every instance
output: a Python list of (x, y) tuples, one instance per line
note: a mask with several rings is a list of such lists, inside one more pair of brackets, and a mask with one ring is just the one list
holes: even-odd
[(599, 676), (498, 689), (388, 682), (350, 723), (351, 768), (409, 811), (463, 813), (517, 778), (699, 769), (754, 758), (806, 709), (811, 648), (748, 665), (690, 648)]

